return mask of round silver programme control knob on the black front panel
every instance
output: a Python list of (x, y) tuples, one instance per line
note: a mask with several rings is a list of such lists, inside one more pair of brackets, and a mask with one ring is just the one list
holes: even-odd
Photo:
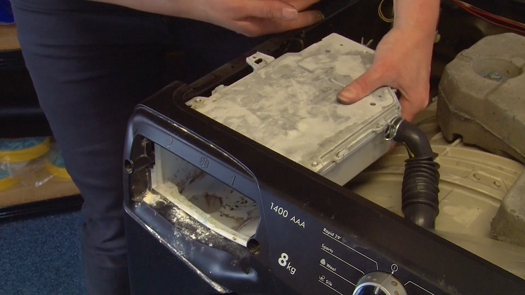
[(375, 271), (361, 277), (353, 295), (407, 295), (406, 290), (390, 273)]

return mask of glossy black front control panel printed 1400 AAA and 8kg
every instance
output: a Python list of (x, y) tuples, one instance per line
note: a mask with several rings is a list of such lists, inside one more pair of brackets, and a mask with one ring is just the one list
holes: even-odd
[[(185, 258), (208, 278), (238, 294), (352, 294), (354, 284), (376, 270), (393, 272), (410, 290), (409, 294), (498, 294), (504, 289), (505, 294), (520, 294), (524, 287), (523, 280), (505, 270), (317, 174), (277, 160), (270, 151), (231, 153), (229, 144), (220, 144), (224, 149), (218, 149), (211, 144), (215, 140), (204, 140), (145, 108), (138, 110), (133, 122), (135, 136), (159, 142), (171, 134), (170, 145), (176, 144), (175, 139), (182, 139), (185, 146), (178, 146), (173, 152), (197, 165), (202, 157), (208, 158), (208, 167), (215, 166), (208, 172), (225, 184), (229, 184), (232, 175), (246, 177), (237, 172), (237, 160), (255, 174), (256, 179), (248, 181), (251, 186), (229, 185), (260, 205), (261, 226), (254, 237), (261, 243), (257, 255), (239, 258), (199, 241), (184, 242), (184, 238), (173, 235), (178, 228), (166, 222), (170, 216), (163, 212), (169, 210), (157, 208), (148, 213), (138, 210), (147, 208), (140, 200), (126, 200), (128, 210), (158, 235), (164, 247), (176, 249), (182, 244), (198, 249), (199, 255)], [(213, 138), (221, 135), (227, 137), (215, 130)], [(244, 151), (251, 146), (249, 142), (228, 142)], [(233, 158), (233, 154), (238, 158)], [(230, 159), (230, 167), (224, 159)], [(148, 179), (137, 181), (132, 185), (145, 187), (139, 182)], [(229, 241), (222, 242), (227, 245)], [(185, 252), (180, 253), (184, 256)], [(228, 270), (232, 263), (237, 266)]]

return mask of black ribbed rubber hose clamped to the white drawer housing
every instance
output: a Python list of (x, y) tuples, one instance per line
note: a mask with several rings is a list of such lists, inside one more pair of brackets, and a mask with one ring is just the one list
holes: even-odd
[(398, 119), (394, 141), (404, 144), (409, 158), (401, 188), (401, 210), (406, 219), (423, 228), (434, 229), (439, 214), (439, 164), (425, 132)]

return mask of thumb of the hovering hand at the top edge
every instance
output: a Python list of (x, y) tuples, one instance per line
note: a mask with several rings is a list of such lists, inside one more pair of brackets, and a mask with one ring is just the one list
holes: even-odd
[(298, 18), (298, 10), (279, 0), (250, 1), (246, 5), (244, 16), (254, 18), (277, 18), (279, 20), (295, 20)]

